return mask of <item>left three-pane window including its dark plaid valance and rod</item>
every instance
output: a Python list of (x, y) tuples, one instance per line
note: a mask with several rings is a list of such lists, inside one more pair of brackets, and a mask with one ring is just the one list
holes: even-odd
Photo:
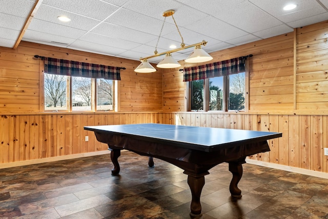
[(98, 64), (42, 57), (45, 111), (113, 110), (114, 81), (120, 69)]

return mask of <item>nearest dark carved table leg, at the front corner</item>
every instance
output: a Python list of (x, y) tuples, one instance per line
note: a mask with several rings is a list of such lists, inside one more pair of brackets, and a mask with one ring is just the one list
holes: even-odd
[(190, 205), (190, 215), (199, 216), (201, 214), (200, 194), (205, 184), (205, 177), (188, 175), (188, 185), (191, 190), (192, 200)]

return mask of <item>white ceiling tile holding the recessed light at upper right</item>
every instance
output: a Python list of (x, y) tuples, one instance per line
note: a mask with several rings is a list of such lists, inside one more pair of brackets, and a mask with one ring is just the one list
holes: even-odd
[[(286, 2), (285, 0), (262, 1), (250, 0), (257, 7), (272, 14), (284, 23), (296, 21), (298, 19), (311, 17), (316, 14), (324, 13), (326, 10), (316, 0), (294, 0)], [(290, 11), (283, 10), (288, 3), (294, 3), (297, 7)]]

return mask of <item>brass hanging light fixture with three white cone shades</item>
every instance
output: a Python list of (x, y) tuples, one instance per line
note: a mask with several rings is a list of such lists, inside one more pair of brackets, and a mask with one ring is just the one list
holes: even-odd
[[(201, 48), (201, 46), (205, 46), (207, 44), (206, 41), (202, 41), (200, 43), (196, 43), (196, 44), (189, 45), (189, 46), (186, 46), (186, 44), (183, 43), (183, 37), (182, 37), (182, 35), (179, 31), (179, 28), (178, 28), (178, 26), (175, 22), (175, 19), (173, 17), (174, 13), (175, 13), (174, 10), (168, 10), (168, 11), (163, 12), (162, 15), (164, 17), (164, 21), (163, 21), (163, 25), (162, 25), (162, 28), (160, 30), (160, 33), (159, 33), (159, 36), (158, 36), (158, 39), (157, 39), (154, 55), (150, 55), (148, 57), (141, 57), (140, 58), (141, 64), (134, 70), (135, 72), (149, 73), (149, 72), (156, 71), (156, 69), (148, 62), (148, 59), (153, 58), (153, 57), (157, 57), (157, 56), (160, 56), (160, 55), (165, 55), (165, 58), (163, 58), (162, 61), (160, 61), (157, 64), (158, 68), (177, 68), (177, 67), (180, 67), (181, 65), (172, 57), (172, 53), (183, 50), (183, 49), (188, 49), (188, 48), (191, 48), (191, 47), (195, 47), (195, 48), (194, 48), (194, 51), (185, 60), (186, 63), (208, 62), (208, 61), (213, 59), (213, 57), (211, 55), (209, 55), (206, 51), (204, 51)], [(157, 52), (157, 46), (158, 46), (159, 38), (160, 38), (161, 32), (163, 30), (163, 27), (164, 27), (164, 24), (165, 24), (165, 21), (166, 21), (166, 17), (168, 17), (168, 16), (172, 16), (175, 27), (176, 27), (176, 29), (177, 29), (180, 37), (181, 37), (181, 41), (182, 41), (181, 44), (180, 44), (181, 48), (173, 49), (173, 50), (170, 50), (170, 51), (167, 51), (167, 52), (158, 53)]]

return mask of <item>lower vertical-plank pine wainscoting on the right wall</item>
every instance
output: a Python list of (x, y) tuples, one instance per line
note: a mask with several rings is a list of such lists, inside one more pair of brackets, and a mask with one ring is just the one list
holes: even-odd
[(269, 141), (271, 149), (269, 153), (261, 153), (249, 158), (261, 162), (328, 173), (328, 156), (324, 156), (323, 152), (323, 148), (328, 147), (328, 115), (179, 112), (163, 113), (162, 123), (282, 132), (282, 137)]

